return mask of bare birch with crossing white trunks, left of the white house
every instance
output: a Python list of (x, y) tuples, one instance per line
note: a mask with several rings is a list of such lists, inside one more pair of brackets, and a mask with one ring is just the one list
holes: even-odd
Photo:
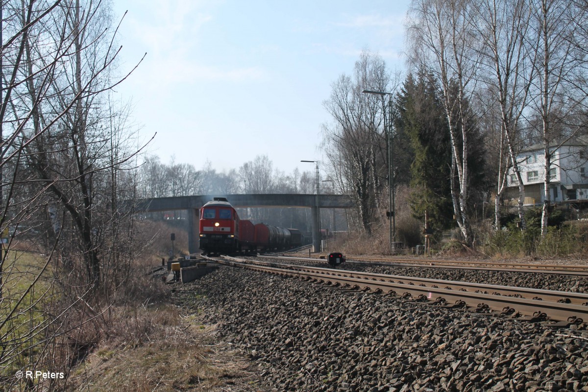
[[(479, 13), (472, 15), (479, 23), (477, 35), (483, 40), (480, 72), (489, 86), (485, 92), (495, 92), (500, 109), (501, 135), (499, 171), (495, 199), (495, 227), (500, 225), (500, 195), (507, 186), (507, 173), (512, 167), (519, 185), (519, 219), (524, 230), (524, 183), (517, 162), (517, 130), (527, 108), (529, 86), (533, 79), (535, 52), (526, 45), (530, 15), (527, 0), (485, 0)], [(510, 162), (506, 162), (509, 160)]]

